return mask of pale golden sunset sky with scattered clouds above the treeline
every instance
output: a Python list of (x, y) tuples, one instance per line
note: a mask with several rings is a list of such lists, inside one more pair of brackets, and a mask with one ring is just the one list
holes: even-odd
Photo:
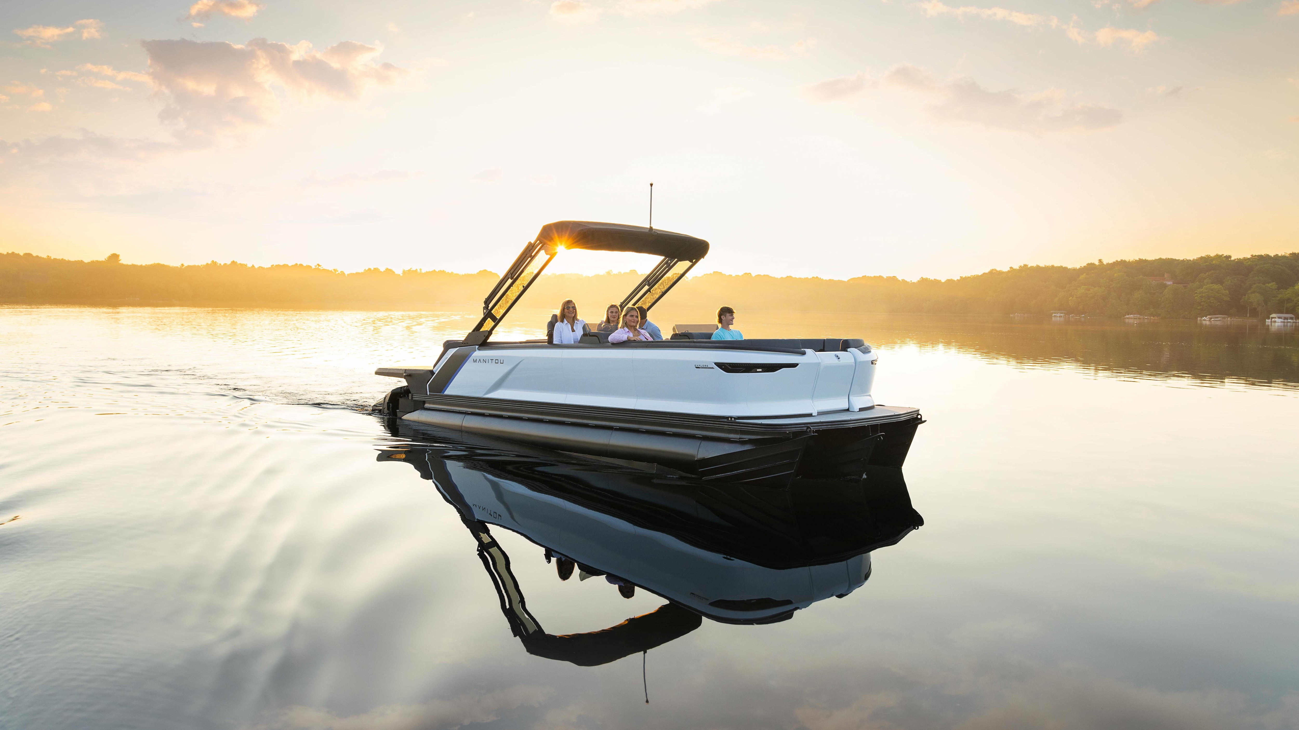
[(712, 242), (700, 270), (1299, 249), (1299, 0), (52, 0), (0, 18), (0, 251), (499, 271), (548, 221), (643, 225), (651, 181), (656, 226)]

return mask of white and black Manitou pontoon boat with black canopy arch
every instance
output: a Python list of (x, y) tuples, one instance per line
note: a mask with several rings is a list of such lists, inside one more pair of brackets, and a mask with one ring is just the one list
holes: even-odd
[[(387, 416), (708, 481), (783, 486), (902, 466), (916, 408), (876, 404), (878, 355), (860, 339), (496, 342), (492, 333), (560, 251), (662, 257), (621, 307), (652, 309), (708, 253), (694, 236), (587, 221), (542, 227), (483, 300), (478, 325), (377, 404)], [(721, 304), (721, 303), (720, 303)], [(621, 377), (631, 373), (631, 378)]]

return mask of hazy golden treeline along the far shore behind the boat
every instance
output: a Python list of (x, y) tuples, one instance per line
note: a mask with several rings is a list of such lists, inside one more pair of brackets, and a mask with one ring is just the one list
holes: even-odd
[[(555, 274), (523, 307), (553, 308), (574, 299), (587, 320), (617, 303), (640, 279), (635, 271)], [(0, 303), (199, 307), (284, 307), (446, 310), (477, 308), (499, 274), (366, 269), (344, 273), (304, 264), (252, 266), (212, 261), (195, 266), (70, 261), (0, 255)], [(1165, 283), (1165, 282), (1173, 283)], [(674, 310), (895, 312), (935, 314), (1073, 314), (1194, 317), (1299, 314), (1299, 253), (1233, 258), (1096, 261), (1085, 266), (1018, 266), (957, 279), (896, 277), (820, 279), (704, 274), (669, 296)]]

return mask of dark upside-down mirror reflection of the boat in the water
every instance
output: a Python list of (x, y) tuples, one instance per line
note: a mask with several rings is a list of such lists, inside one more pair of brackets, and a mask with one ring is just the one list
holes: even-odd
[[(924, 523), (895, 468), (787, 488), (717, 485), (390, 422), (408, 443), (378, 460), (409, 464), (456, 508), (527, 652), (582, 666), (661, 646), (704, 617), (772, 623), (843, 598), (870, 577), (870, 551)], [(577, 569), (668, 603), (599, 631), (547, 634), (491, 526), (544, 548), (562, 579)]]

